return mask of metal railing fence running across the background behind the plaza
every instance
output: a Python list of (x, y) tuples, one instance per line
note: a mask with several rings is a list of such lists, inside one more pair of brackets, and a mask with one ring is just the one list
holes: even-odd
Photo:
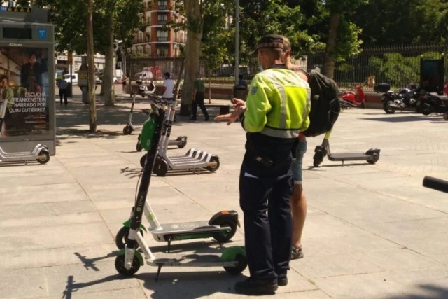
[[(364, 48), (359, 55), (336, 62), (334, 79), (341, 89), (349, 89), (363, 84), (365, 90), (372, 90), (379, 83), (389, 83), (393, 89), (407, 87), (411, 83), (419, 84), (421, 59), (444, 58), (445, 77), (448, 77), (448, 61), (444, 53), (448, 45), (401, 45), (388, 47)], [(293, 51), (293, 53), (295, 53)], [(163, 74), (169, 72), (176, 79), (181, 68), (180, 57), (151, 57), (130, 60), (130, 76), (151, 69), (155, 81), (162, 81)], [(207, 60), (200, 60), (200, 73), (204, 80), (213, 87), (232, 88), (235, 83), (235, 67), (231, 63), (223, 63), (219, 67), (207, 68)], [(324, 53), (302, 55), (294, 64), (303, 69), (323, 68)], [(239, 74), (244, 75), (248, 83), (258, 73), (256, 55), (241, 61)]]

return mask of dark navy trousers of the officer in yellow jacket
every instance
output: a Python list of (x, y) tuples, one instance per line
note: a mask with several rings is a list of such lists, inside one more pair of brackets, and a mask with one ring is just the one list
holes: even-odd
[(244, 211), (244, 241), (251, 278), (286, 274), (292, 244), (291, 157), (274, 167), (254, 162), (247, 153), (239, 176), (239, 204)]

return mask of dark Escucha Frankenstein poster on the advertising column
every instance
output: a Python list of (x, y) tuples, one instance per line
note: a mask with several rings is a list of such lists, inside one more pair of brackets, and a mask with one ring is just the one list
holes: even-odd
[(0, 47), (1, 137), (49, 134), (49, 79), (48, 49)]

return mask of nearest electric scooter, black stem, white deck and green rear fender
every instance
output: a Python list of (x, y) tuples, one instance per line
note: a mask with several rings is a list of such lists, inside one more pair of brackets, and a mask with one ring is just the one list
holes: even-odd
[[(148, 154), (144, 167), (142, 169), (141, 181), (137, 196), (135, 197), (135, 204), (132, 208), (132, 216), (130, 218), (130, 229), (125, 238), (125, 247), (120, 249), (115, 260), (115, 267), (118, 273), (125, 276), (132, 276), (146, 264), (158, 267), (157, 276), (155, 280), (158, 281), (160, 270), (162, 267), (224, 267), (230, 274), (240, 274), (247, 267), (246, 251), (244, 247), (232, 246), (223, 251), (221, 258), (216, 256), (216, 261), (201, 261), (193, 260), (187, 261), (186, 256), (180, 258), (156, 258), (148, 244), (146, 244), (143, 235), (141, 234), (141, 218), (144, 214), (144, 208), (147, 205), (146, 197), (148, 189), (151, 184), (151, 172), (155, 164), (155, 158), (158, 155), (159, 142), (162, 137), (162, 130), (165, 122), (165, 111), (158, 107), (151, 113), (151, 119), (146, 123), (146, 132), (144, 139), (148, 141)], [(144, 128), (145, 129), (145, 128)], [(143, 135), (142, 135), (143, 136)], [(178, 224), (179, 227), (183, 223)], [(143, 252), (144, 256), (141, 254)], [(196, 256), (196, 255), (195, 255)], [(209, 256), (207, 256), (209, 257)]]

